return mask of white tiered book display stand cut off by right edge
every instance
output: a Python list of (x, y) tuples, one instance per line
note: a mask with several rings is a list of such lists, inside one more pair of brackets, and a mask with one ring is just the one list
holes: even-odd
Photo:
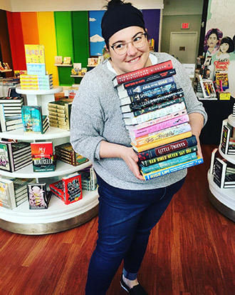
[[(230, 115), (227, 120), (223, 121), (223, 126), (229, 123), (235, 128), (235, 116)], [(235, 165), (235, 154), (224, 154), (221, 147), (223, 145), (223, 126), (221, 131), (221, 143), (219, 144), (219, 154), (223, 159)], [(228, 139), (229, 140), (229, 139)], [(223, 149), (224, 150), (224, 149)], [(212, 162), (212, 161), (211, 161)], [(221, 188), (214, 182), (213, 167), (208, 171), (207, 178), (209, 182), (209, 200), (214, 207), (229, 219), (235, 221), (235, 187)], [(224, 181), (221, 176), (221, 181)], [(222, 185), (221, 185), (222, 186)]]

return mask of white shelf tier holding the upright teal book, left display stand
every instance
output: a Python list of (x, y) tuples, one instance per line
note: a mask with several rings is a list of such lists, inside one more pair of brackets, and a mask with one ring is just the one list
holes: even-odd
[(19, 139), (19, 140), (25, 140), (25, 141), (33, 141), (33, 140), (43, 140), (46, 139), (62, 139), (64, 137), (69, 137), (70, 131), (55, 128), (55, 127), (49, 127), (49, 129), (44, 134), (33, 134), (23, 133), (23, 129), (16, 129), (6, 132), (0, 132), (0, 137), (4, 139)]

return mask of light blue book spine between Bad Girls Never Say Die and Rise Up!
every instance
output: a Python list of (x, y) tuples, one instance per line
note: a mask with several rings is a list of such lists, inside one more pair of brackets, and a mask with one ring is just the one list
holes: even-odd
[(179, 156), (177, 158), (174, 159), (169, 159), (167, 161), (162, 161), (160, 163), (151, 165), (151, 166), (141, 166), (141, 170), (143, 173), (149, 173), (152, 171), (156, 171), (156, 170), (160, 170), (160, 169), (164, 169), (167, 168), (169, 166), (175, 166), (177, 164), (182, 164), (184, 162), (187, 161), (191, 161), (197, 159), (197, 154), (196, 153), (192, 153), (192, 154), (188, 154), (188, 155), (184, 155), (184, 156)]

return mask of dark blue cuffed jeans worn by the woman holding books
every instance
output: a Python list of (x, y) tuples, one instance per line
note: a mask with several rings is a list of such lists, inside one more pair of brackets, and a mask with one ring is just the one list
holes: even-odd
[(86, 295), (103, 295), (124, 260), (123, 274), (136, 279), (151, 229), (167, 209), (184, 179), (162, 189), (125, 190), (98, 176), (98, 240), (90, 259)]

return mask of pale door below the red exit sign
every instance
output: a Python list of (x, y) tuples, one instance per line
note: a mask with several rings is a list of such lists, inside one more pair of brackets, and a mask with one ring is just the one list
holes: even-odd
[(182, 64), (195, 64), (197, 52), (197, 31), (171, 32), (169, 54)]

